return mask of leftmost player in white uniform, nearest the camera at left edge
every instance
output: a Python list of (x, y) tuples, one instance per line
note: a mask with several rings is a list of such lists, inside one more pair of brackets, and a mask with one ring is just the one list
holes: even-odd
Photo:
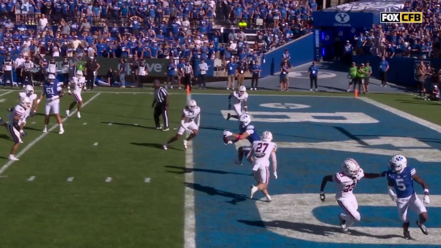
[(9, 114), (9, 123), (8, 123), (8, 131), (14, 140), (14, 145), (11, 148), (11, 152), (9, 153), (9, 159), (13, 161), (17, 161), (18, 158), (15, 157), (15, 152), (18, 149), (18, 146), (23, 143), (22, 138), (20, 136), (26, 137), (25, 131), (20, 127), (22, 121), (25, 120), (25, 114), (28, 109), (30, 109), (31, 101), (29, 97), (25, 96), (20, 99), (20, 102), (17, 106), (14, 107), (13, 111)]

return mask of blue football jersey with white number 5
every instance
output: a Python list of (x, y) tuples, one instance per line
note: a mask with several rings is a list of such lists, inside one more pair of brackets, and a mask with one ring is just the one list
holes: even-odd
[(396, 172), (388, 171), (386, 173), (389, 182), (392, 182), (395, 188), (395, 193), (398, 198), (406, 198), (411, 196), (415, 191), (413, 190), (412, 176), (416, 174), (413, 167), (404, 168), (403, 172), (397, 174)]

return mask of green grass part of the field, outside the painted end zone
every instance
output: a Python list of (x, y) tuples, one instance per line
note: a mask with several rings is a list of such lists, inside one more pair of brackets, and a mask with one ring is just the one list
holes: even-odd
[[(37, 91), (40, 89), (37, 88)], [(169, 132), (154, 129), (151, 89), (98, 88), (83, 94), (88, 105), (82, 119), (64, 122), (43, 135), (44, 116), (28, 121), (28, 137), (19, 151), (38, 139), (10, 164), (0, 178), (0, 247), (182, 247), (184, 242), (184, 174), (166, 166), (185, 166), (185, 152), (175, 134), (185, 105), (183, 91), (171, 91)], [(104, 92), (105, 91), (105, 92)], [(109, 91), (109, 92), (108, 92)], [(2, 95), (0, 116), (16, 102), (16, 91)], [(143, 92), (131, 94), (136, 92)], [(194, 93), (227, 94), (223, 90)], [(38, 92), (39, 93), (39, 92)], [(147, 93), (147, 94), (145, 94)], [(280, 94), (259, 91), (258, 94)], [(251, 97), (252, 94), (250, 93)], [(284, 93), (287, 94), (287, 93)], [(294, 93), (317, 95), (316, 92)], [(348, 93), (320, 95), (352, 96)], [(90, 102), (88, 101), (94, 97)], [(409, 94), (367, 97), (441, 125), (436, 102)], [(62, 116), (72, 97), (62, 98)], [(39, 113), (43, 111), (43, 105)], [(35, 122), (35, 123), (33, 123)], [(52, 118), (51, 123), (55, 123)], [(109, 123), (112, 123), (109, 125)], [(0, 166), (7, 164), (12, 140), (0, 132)], [(98, 143), (94, 146), (94, 143)], [(170, 172), (172, 171), (172, 172)], [(32, 181), (28, 179), (34, 176)], [(74, 177), (68, 182), (69, 177)], [(111, 177), (111, 182), (106, 178)], [(150, 182), (145, 182), (150, 178)]]

